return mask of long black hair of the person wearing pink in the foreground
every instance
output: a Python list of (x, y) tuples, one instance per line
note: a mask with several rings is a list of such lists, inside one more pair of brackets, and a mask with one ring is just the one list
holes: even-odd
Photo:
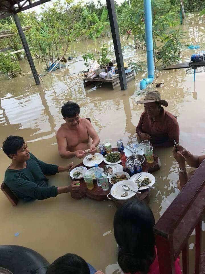
[(154, 225), (153, 213), (144, 202), (128, 202), (116, 211), (114, 236), (118, 263), (125, 273), (148, 273), (155, 258)]

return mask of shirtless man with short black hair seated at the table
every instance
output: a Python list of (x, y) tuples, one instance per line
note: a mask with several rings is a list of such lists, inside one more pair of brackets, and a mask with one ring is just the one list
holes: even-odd
[(83, 158), (88, 149), (90, 154), (95, 154), (100, 138), (91, 122), (80, 118), (79, 105), (68, 101), (62, 106), (61, 113), (65, 124), (62, 124), (56, 134), (61, 158)]

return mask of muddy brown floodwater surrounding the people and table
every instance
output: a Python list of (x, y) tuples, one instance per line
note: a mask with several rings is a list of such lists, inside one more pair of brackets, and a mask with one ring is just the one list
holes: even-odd
[[(195, 15), (182, 27), (185, 33), (183, 44), (205, 45), (205, 18)], [(111, 37), (101, 38), (98, 45), (112, 42)], [(123, 41), (128, 45), (128, 41)], [(80, 57), (85, 50), (94, 48), (90, 40), (73, 43), (76, 59), (68, 62), (62, 71), (42, 76), (44, 83), (36, 86), (26, 60), (20, 61), (22, 76), (12, 80), (1, 77), (0, 85), (0, 143), (9, 135), (19, 135), (28, 142), (30, 151), (48, 163), (65, 165), (71, 160), (61, 159), (56, 144), (56, 131), (63, 123), (61, 106), (68, 100), (80, 105), (81, 117), (91, 118), (101, 140), (122, 138), (124, 145), (136, 140), (135, 127), (143, 111), (143, 105), (136, 101), (144, 96), (139, 91), (140, 79), (146, 72), (136, 75), (128, 82), (128, 89), (112, 90), (110, 86), (83, 87), (83, 81), (69, 79), (84, 70), (84, 61)], [(199, 50), (183, 47), (183, 61)], [(145, 60), (145, 55), (134, 50), (125, 50), (124, 58), (137, 57)], [(44, 74), (44, 65), (35, 60), (36, 68)], [(205, 115), (204, 115), (204, 73), (196, 74), (194, 86), (193, 74), (185, 69), (159, 70), (158, 82), (165, 86), (159, 88), (161, 97), (167, 99), (167, 110), (177, 115), (180, 125), (180, 143), (194, 154), (204, 154)], [(172, 155), (172, 148), (157, 149), (155, 153), (161, 159), (161, 169), (154, 173), (155, 189), (151, 190), (151, 207), (157, 221), (173, 199), (179, 193), (178, 165)], [(0, 150), (1, 175), (10, 164), (9, 158)], [(72, 159), (75, 164), (81, 162)], [(192, 170), (190, 168), (190, 170)], [(68, 173), (51, 176), (50, 184), (64, 186), (70, 183)], [(113, 234), (113, 217), (116, 207), (112, 201), (97, 202), (85, 198), (74, 200), (70, 194), (61, 194), (31, 203), (19, 203), (13, 207), (3, 192), (0, 192), (0, 235), (1, 245), (22, 245), (34, 249), (50, 263), (69, 252), (76, 253), (91, 263), (96, 269), (107, 274), (120, 272), (117, 265), (117, 246)], [(205, 230), (203, 223), (202, 229)], [(19, 236), (14, 234), (19, 232)], [(203, 233), (204, 236), (204, 233)], [(190, 255), (194, 256), (194, 235), (190, 237)], [(193, 261), (190, 262), (193, 269)]]

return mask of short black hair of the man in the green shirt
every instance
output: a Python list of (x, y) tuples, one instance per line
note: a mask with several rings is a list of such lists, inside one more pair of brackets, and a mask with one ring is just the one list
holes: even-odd
[(3, 142), (3, 151), (10, 158), (10, 154), (16, 154), (17, 150), (25, 144), (23, 137), (10, 135)]

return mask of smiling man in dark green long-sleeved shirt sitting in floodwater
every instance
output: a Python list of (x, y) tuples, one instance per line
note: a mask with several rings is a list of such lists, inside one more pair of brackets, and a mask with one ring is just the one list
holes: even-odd
[(67, 166), (46, 164), (29, 152), (24, 139), (19, 136), (9, 136), (3, 142), (3, 151), (12, 160), (5, 172), (5, 183), (21, 200), (44, 200), (61, 193), (76, 193), (80, 186), (78, 181), (70, 186), (48, 186), (45, 175), (55, 175), (57, 172), (70, 171), (73, 163)]

